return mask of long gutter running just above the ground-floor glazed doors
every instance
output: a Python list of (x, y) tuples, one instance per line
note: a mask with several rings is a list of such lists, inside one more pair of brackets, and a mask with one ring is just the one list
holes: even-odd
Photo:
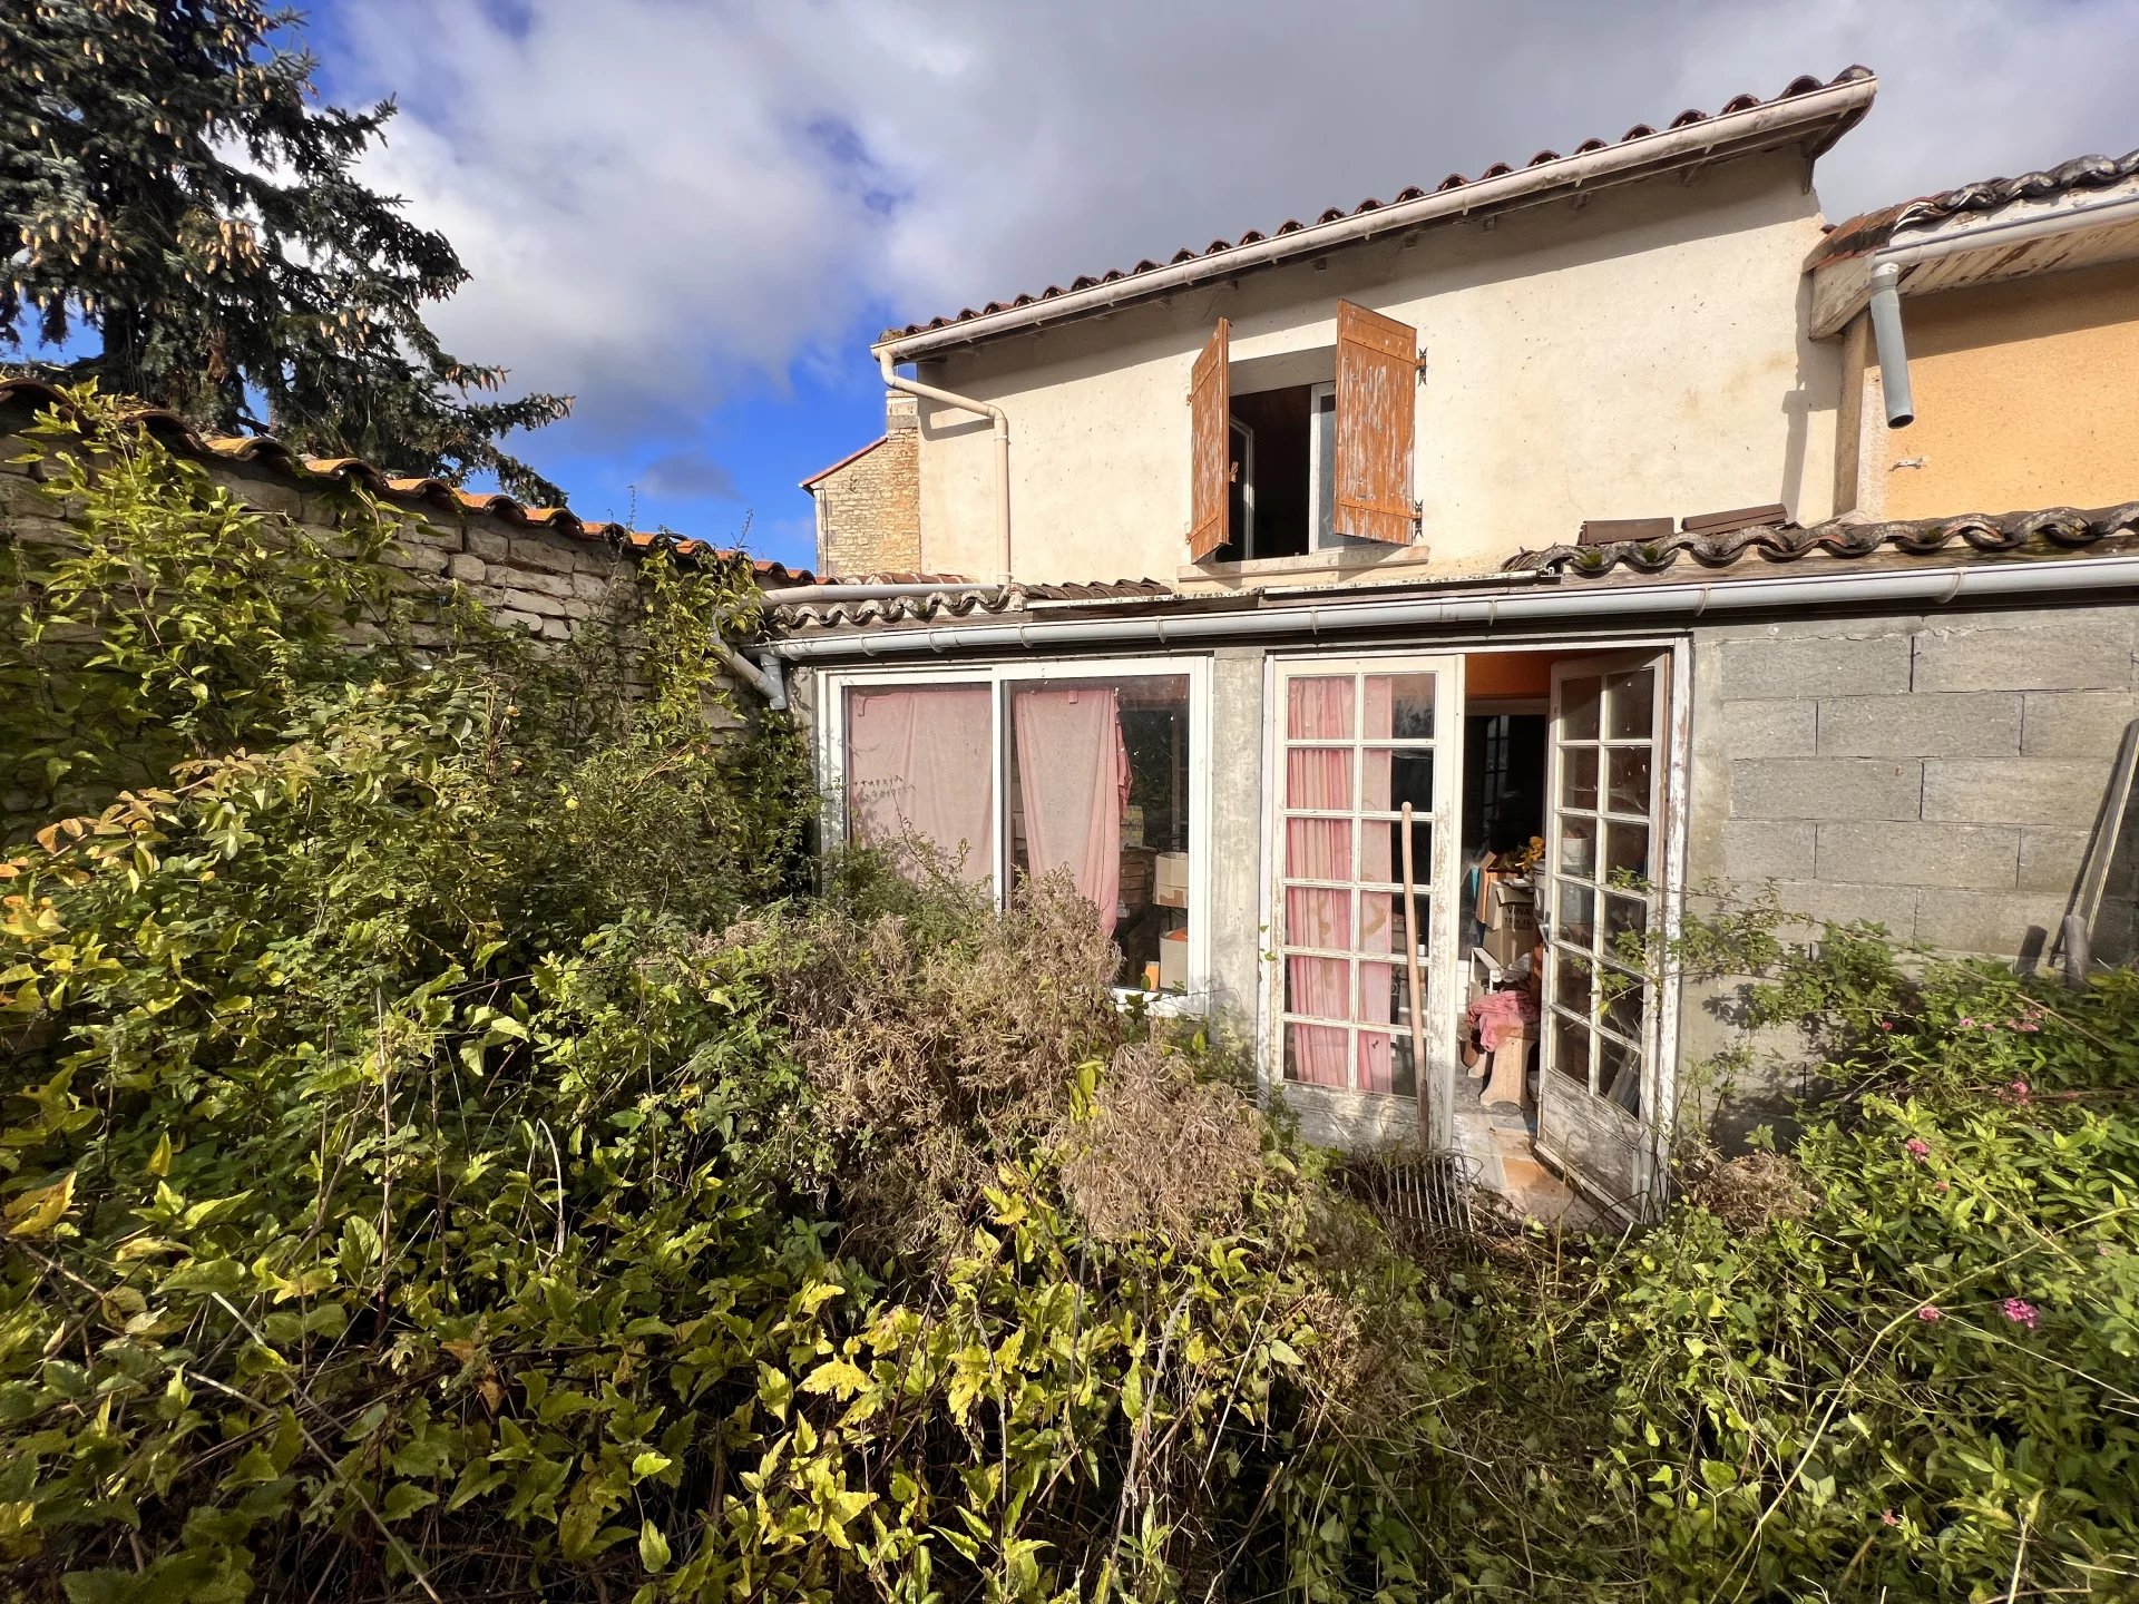
[(1944, 607), (1955, 601), (2060, 597), (2139, 588), (2139, 556), (2071, 558), (2062, 562), (1985, 562), (1876, 573), (1810, 573), (1775, 580), (1696, 584), (1585, 584), (1521, 595), (1412, 597), (1405, 601), (1258, 607), (1181, 618), (1082, 618), (1042, 624), (958, 624), (945, 629), (875, 629), (774, 642), (789, 661), (915, 657), (948, 650), (1029, 650), (1035, 646), (1191, 646), (1238, 635), (1348, 635), (1369, 629), (1493, 629), (1495, 624), (1626, 618), (1692, 624), (1709, 614), (1788, 607), (1895, 605)]

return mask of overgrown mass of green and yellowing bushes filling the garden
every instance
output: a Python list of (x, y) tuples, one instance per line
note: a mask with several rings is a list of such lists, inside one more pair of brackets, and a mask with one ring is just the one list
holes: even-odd
[(1405, 1255), (1061, 888), (802, 894), (747, 575), (419, 650), (376, 509), (81, 430), (0, 644), (90, 798), (0, 864), (9, 1595), (2135, 1593), (2130, 973), (1711, 922), (1792, 1151)]

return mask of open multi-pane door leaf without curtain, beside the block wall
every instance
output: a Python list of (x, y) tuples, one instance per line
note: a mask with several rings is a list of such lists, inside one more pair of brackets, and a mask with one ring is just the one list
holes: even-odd
[(1671, 652), (1553, 667), (1538, 1151), (1641, 1215), (1658, 1185), (1653, 945), (1664, 915)]

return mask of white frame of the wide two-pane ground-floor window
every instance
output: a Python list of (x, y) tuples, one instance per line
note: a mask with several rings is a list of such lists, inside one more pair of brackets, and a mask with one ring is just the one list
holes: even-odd
[[(1001, 909), (1010, 896), (1010, 687), (1050, 680), (1187, 678), (1189, 708), (1189, 984), (1174, 1009), (1202, 1014), (1211, 1001), (1211, 657), (1040, 657), (1018, 663), (933, 667), (826, 669), (817, 684), (819, 840), (834, 851), (847, 840), (847, 691), (888, 687), (988, 684), (988, 761), (995, 766), (995, 808), (988, 840), (988, 890)], [(1127, 988), (1136, 990), (1136, 988)]]

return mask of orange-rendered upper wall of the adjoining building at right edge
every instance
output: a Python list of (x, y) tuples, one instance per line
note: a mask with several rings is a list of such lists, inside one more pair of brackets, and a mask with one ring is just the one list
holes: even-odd
[(1904, 430), (1884, 426), (1869, 340), (1852, 325), (1844, 342), (1865, 396), (1861, 511), (1949, 518), (2139, 498), (2139, 263), (1904, 299), (1902, 327), (1917, 400)]

